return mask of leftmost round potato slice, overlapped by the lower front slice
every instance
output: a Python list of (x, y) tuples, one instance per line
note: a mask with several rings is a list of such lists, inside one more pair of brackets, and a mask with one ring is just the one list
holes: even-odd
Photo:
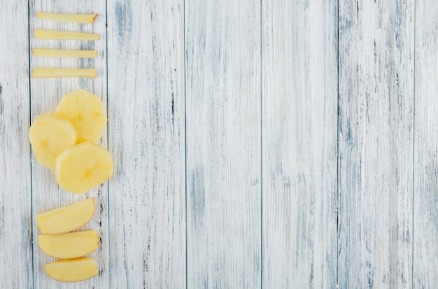
[(50, 169), (55, 169), (56, 157), (64, 148), (75, 144), (76, 139), (76, 130), (70, 120), (53, 113), (39, 115), (29, 128), (36, 160)]

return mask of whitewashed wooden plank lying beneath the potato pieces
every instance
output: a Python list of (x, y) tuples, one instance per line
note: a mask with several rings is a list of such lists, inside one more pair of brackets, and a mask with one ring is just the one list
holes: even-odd
[[(60, 99), (66, 93), (73, 90), (85, 89), (101, 97), (106, 106), (106, 3), (105, 1), (45, 1), (31, 0), (30, 8), (30, 29), (31, 48), (54, 48), (54, 49), (83, 49), (97, 50), (95, 59), (73, 59), (73, 58), (47, 58), (31, 57), (31, 68), (95, 68), (97, 78), (46, 78), (31, 79), (31, 119), (36, 116), (54, 112)], [(36, 11), (52, 13), (99, 13), (94, 24), (74, 24), (64, 22), (52, 22), (41, 20), (36, 17)], [(66, 31), (81, 31), (87, 33), (98, 33), (101, 36), (99, 41), (56, 41), (39, 40), (34, 38), (33, 29), (53, 29)], [(106, 130), (101, 140), (101, 145), (106, 147)], [(59, 188), (55, 181), (55, 172), (43, 167), (36, 162), (34, 155), (31, 157), (32, 169), (32, 208), (34, 222), (34, 287), (35, 288), (109, 288), (108, 252), (109, 252), (109, 230), (108, 230), (108, 183), (99, 186), (85, 195), (76, 195)], [(97, 260), (99, 265), (99, 276), (88, 281), (78, 283), (60, 283), (48, 277), (44, 272), (45, 263), (54, 259), (44, 255), (38, 248), (38, 231), (35, 223), (37, 213), (55, 209), (60, 206), (72, 204), (87, 197), (94, 197), (96, 212), (90, 223), (80, 230), (93, 229), (99, 232), (101, 244), (97, 252), (90, 256)]]

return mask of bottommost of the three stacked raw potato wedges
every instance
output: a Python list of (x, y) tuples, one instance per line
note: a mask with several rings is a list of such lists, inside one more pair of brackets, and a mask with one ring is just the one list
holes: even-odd
[(90, 279), (99, 274), (93, 258), (59, 260), (44, 265), (44, 271), (50, 278), (62, 282), (77, 282)]

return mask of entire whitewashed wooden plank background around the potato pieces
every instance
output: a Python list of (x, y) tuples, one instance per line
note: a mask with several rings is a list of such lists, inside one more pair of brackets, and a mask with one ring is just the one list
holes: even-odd
[[(0, 288), (437, 288), (437, 1), (0, 3)], [(29, 78), (43, 66), (98, 74)], [(104, 101), (115, 162), (85, 196), (27, 139), (79, 88)], [(35, 216), (85, 197), (100, 274), (53, 281)]]

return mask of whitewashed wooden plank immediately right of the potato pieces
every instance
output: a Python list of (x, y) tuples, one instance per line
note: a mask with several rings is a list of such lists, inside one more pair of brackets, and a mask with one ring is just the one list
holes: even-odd
[(185, 288), (183, 1), (108, 1), (110, 288)]

